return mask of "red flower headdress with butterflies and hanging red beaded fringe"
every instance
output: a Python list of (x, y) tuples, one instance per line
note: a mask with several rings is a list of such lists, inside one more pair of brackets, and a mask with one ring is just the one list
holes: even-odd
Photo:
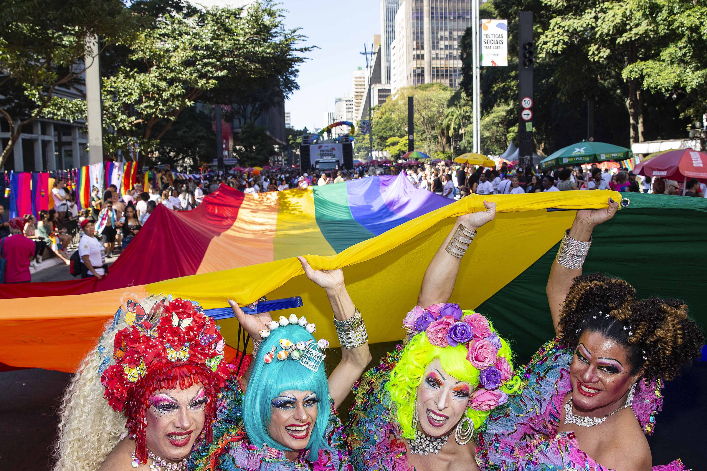
[(145, 414), (155, 391), (201, 383), (209, 398), (203, 433), (211, 441), (216, 398), (230, 378), (223, 357), (225, 342), (214, 319), (198, 304), (178, 298), (167, 302), (162, 299), (145, 314), (141, 304), (128, 300), (125, 320), (130, 327), (115, 334), (115, 364), (101, 377), (108, 403), (127, 417), (141, 463), (147, 463)]

